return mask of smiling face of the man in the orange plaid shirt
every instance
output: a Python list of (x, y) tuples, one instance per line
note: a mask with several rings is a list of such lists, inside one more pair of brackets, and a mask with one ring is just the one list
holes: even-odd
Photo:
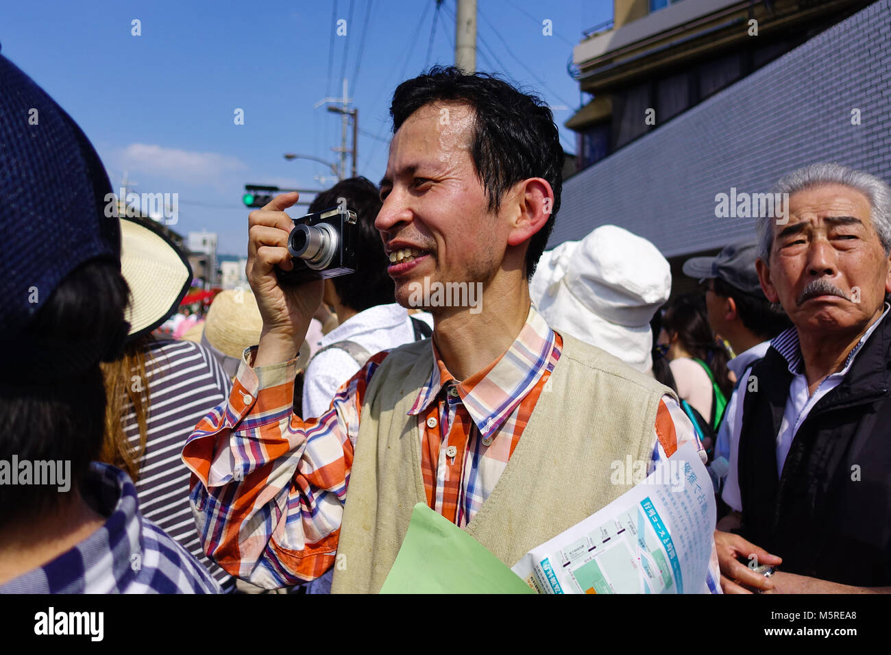
[[(473, 126), (467, 105), (432, 102), (406, 119), (390, 143), (380, 181), (383, 207), (374, 225), (403, 306), (410, 285), (425, 277), (486, 283), (503, 260), (509, 227), (488, 210), (470, 156)], [(405, 250), (414, 257), (402, 258)]]

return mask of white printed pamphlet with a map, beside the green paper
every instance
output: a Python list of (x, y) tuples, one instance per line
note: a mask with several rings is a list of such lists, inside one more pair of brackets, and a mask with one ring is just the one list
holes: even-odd
[(642, 484), (534, 548), (513, 571), (544, 594), (702, 593), (715, 498), (686, 444)]

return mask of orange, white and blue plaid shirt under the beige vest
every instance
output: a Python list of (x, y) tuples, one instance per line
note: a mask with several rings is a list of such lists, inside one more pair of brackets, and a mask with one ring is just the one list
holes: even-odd
[[(430, 507), (459, 525), (473, 519), (547, 392), (560, 349), (535, 307), (511, 348), (460, 385), (434, 348), (437, 365), (409, 411), (418, 417)], [(365, 390), (388, 353), (372, 356), (326, 413), (306, 420), (290, 411), (296, 359), (251, 368), (254, 355), (245, 351), (228, 402), (198, 424), (183, 456), (195, 473), (192, 503), (207, 552), (234, 575), (272, 588), (315, 579), (334, 564)], [(660, 442), (671, 453), (686, 441), (705, 461), (691, 423), (666, 395), (653, 459), (667, 456)], [(719, 579), (713, 559), (710, 590)]]

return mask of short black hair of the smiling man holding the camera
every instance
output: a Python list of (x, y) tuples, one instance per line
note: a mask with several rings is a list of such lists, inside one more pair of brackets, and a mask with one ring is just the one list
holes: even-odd
[(522, 93), (495, 76), (466, 75), (454, 66), (434, 66), (396, 87), (390, 104), (393, 133), (430, 102), (465, 102), (473, 110), (470, 155), (486, 190), (489, 211), (498, 211), (504, 193), (522, 180), (542, 177), (551, 184), (551, 216), (529, 239), (526, 253), (526, 274), (531, 280), (560, 209), (563, 187), (564, 153), (551, 109), (538, 95)]

